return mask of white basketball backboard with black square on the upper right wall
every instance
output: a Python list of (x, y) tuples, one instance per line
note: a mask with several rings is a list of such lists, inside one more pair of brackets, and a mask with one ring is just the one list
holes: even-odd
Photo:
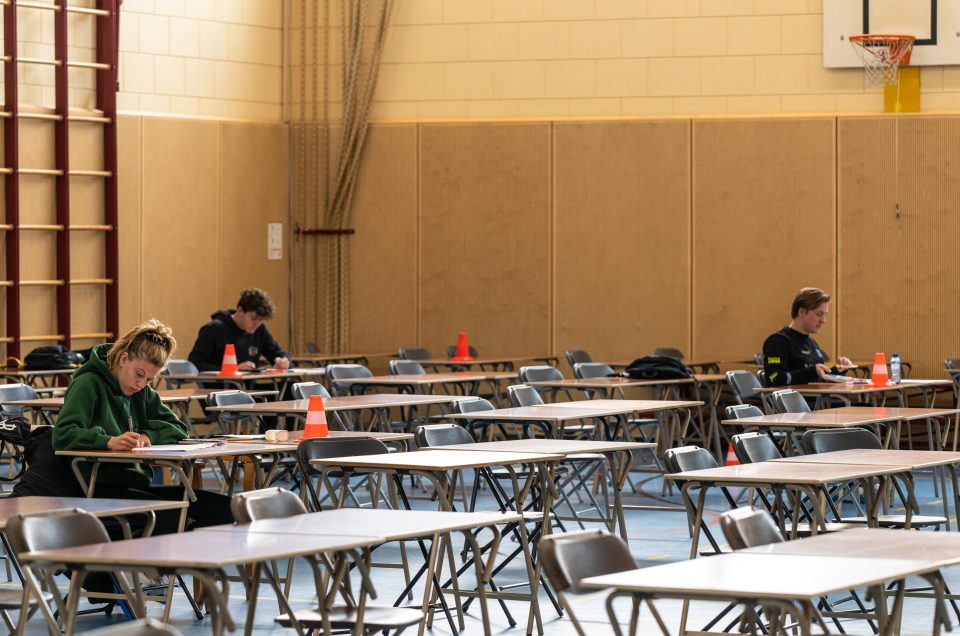
[(953, 0), (824, 0), (823, 65), (863, 66), (849, 37), (913, 35), (910, 66), (960, 64), (960, 7)]

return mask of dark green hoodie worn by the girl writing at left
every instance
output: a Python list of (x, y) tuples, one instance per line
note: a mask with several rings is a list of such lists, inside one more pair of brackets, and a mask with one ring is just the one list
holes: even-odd
[[(187, 429), (160, 396), (147, 386), (127, 397), (107, 367), (111, 343), (97, 345), (90, 359), (73, 374), (63, 408), (53, 428), (54, 450), (102, 450), (111, 437), (128, 430), (143, 433), (151, 444), (171, 444), (187, 436)], [(132, 423), (132, 429), (130, 424)], [(81, 465), (89, 478), (89, 465)], [(141, 464), (103, 464), (98, 484), (143, 488), (153, 473)]]

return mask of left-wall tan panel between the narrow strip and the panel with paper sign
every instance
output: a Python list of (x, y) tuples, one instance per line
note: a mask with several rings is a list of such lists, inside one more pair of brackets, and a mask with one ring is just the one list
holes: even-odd
[(143, 318), (159, 318), (186, 357), (220, 305), (219, 124), (143, 119)]

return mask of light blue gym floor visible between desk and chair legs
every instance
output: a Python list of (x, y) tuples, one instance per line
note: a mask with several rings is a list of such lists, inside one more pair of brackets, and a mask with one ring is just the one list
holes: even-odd
[[(646, 481), (644, 481), (646, 480)], [(638, 484), (640, 492), (627, 492), (624, 496), (624, 503), (627, 506), (651, 506), (651, 507), (670, 507), (674, 508), (680, 505), (680, 498), (674, 490), (673, 494), (661, 497), (661, 481), (659, 478), (650, 478), (649, 475), (634, 475), (633, 481)], [(921, 502), (923, 514), (942, 514), (942, 503), (939, 496), (933, 492), (933, 484), (929, 474), (920, 474), (916, 479), (917, 497)], [(414, 493), (411, 493), (414, 494)], [(423, 492), (416, 493), (424, 495)], [(726, 504), (719, 494), (713, 494), (708, 498), (710, 523), (716, 525), (717, 515), (726, 509)], [(414, 507), (422, 509), (435, 509), (435, 503), (431, 503), (426, 497), (418, 498), (413, 502)], [(482, 503), (477, 509), (493, 509), (492, 497), (487, 494), (482, 497)], [(955, 517), (955, 513), (953, 515)], [(626, 511), (627, 525), (629, 528), (630, 548), (638, 567), (661, 564), (670, 561), (686, 559), (690, 549), (690, 538), (687, 531), (686, 515), (682, 509), (628, 509)], [(955, 519), (951, 520), (955, 523)], [(575, 524), (567, 522), (568, 529), (576, 529)], [(589, 524), (597, 527), (597, 524)], [(589, 526), (588, 526), (589, 527)], [(955, 528), (955, 526), (954, 526)], [(956, 531), (956, 530), (954, 530)], [(716, 528), (719, 535), (719, 528)], [(455, 539), (457, 541), (457, 539)], [(457, 541), (459, 544), (459, 541)], [(415, 544), (408, 544), (408, 554), (411, 557), (411, 566), (418, 567), (422, 561), (419, 558), (419, 550)], [(701, 546), (707, 545), (705, 542)], [(504, 541), (501, 545), (501, 553), (512, 551), (515, 545), (509, 541)], [(385, 562), (399, 562), (400, 550), (397, 544), (391, 544), (378, 548), (375, 553), (375, 560)], [(516, 567), (508, 568), (499, 578), (498, 582), (519, 581), (525, 578), (521, 572), (519, 561)], [(472, 570), (471, 570), (472, 572)], [(960, 590), (960, 576), (958, 572), (947, 570), (944, 576), (951, 589)], [(829, 576), (825, 572), (824, 576)], [(375, 603), (392, 603), (403, 588), (403, 577), (399, 570), (394, 569), (374, 569), (373, 580), (377, 588), (379, 598)], [(469, 579), (464, 579), (467, 583)], [(912, 583), (912, 581), (911, 581)], [(461, 583), (464, 584), (463, 582)], [(9, 585), (15, 585), (10, 583)], [(419, 603), (418, 595), (422, 588), (417, 590), (414, 596), (414, 603)], [(242, 622), (246, 614), (246, 602), (243, 597), (243, 586), (239, 582), (231, 584), (231, 612), (238, 624)], [(297, 609), (307, 609), (315, 605), (315, 595), (313, 592), (312, 578), (309, 575), (308, 568), (301, 564), (295, 568), (294, 588), (290, 595), (292, 605)], [(575, 634), (569, 619), (557, 616), (553, 607), (547, 600), (546, 595), (541, 591), (541, 608), (544, 618), (544, 632), (549, 635), (567, 635)], [(667, 622), (672, 634), (677, 633), (680, 616), (680, 602), (661, 600), (656, 605), (662, 616)], [(517, 620), (517, 627), (510, 628), (504, 614), (495, 602), (490, 603), (491, 622), (493, 633), (495, 634), (524, 634), (527, 617), (527, 605), (525, 603), (510, 602), (508, 606)], [(89, 607), (86, 601), (81, 601), (81, 608)], [(273, 622), (274, 617), (279, 613), (276, 601), (269, 590), (264, 585), (261, 587), (260, 599), (258, 601), (258, 610), (256, 622), (253, 631), (256, 634), (280, 634), (292, 633), (290, 630), (276, 626)], [(722, 609), (722, 604), (715, 603), (694, 603), (691, 608), (691, 618), (688, 623), (688, 629), (701, 629), (717, 611)], [(932, 625), (933, 602), (926, 599), (907, 599), (906, 611), (903, 621), (902, 634), (930, 634)], [(150, 603), (148, 611), (152, 616), (159, 617), (162, 613), (162, 606), (157, 603)], [(602, 595), (589, 595), (577, 600), (575, 611), (585, 630), (593, 635), (611, 634), (612, 629), (606, 618), (605, 606)], [(957, 617), (951, 617), (956, 624)], [(119, 611), (114, 611), (112, 617), (106, 617), (104, 614), (84, 616), (79, 619), (78, 631), (87, 631), (98, 627), (117, 624), (124, 618)], [(184, 634), (209, 634), (209, 618), (203, 621), (197, 621), (187, 604), (187, 601), (179, 592), (175, 595), (174, 605), (171, 611), (171, 624), (176, 626)], [(479, 619), (479, 607), (474, 605), (470, 608), (465, 617), (466, 634), (482, 634), (482, 625)], [(238, 625), (242, 629), (242, 625)], [(871, 634), (873, 633), (866, 623), (862, 621), (843, 622), (844, 630), (849, 634)], [(35, 616), (30, 624), (28, 633), (46, 634), (46, 626), (42, 618)], [(416, 633), (413, 628), (405, 633)], [(442, 615), (437, 616), (432, 630), (428, 633), (449, 634), (450, 628), (443, 620)], [(650, 615), (646, 611), (641, 611), (640, 634), (658, 633)]]

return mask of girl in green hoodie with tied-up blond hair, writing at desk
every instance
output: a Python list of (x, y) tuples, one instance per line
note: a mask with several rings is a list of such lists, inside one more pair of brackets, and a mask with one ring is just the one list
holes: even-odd
[[(186, 426), (151, 386), (176, 347), (170, 328), (159, 320), (144, 322), (116, 343), (94, 347), (67, 389), (53, 429), (53, 448), (129, 451), (186, 437)], [(84, 469), (89, 478), (89, 466)], [(149, 466), (104, 463), (94, 496), (183, 499), (181, 486), (151, 486), (152, 480)], [(196, 494), (187, 511), (193, 526), (233, 522), (228, 497), (201, 490)], [(176, 532), (178, 517), (158, 514), (154, 534)]]

